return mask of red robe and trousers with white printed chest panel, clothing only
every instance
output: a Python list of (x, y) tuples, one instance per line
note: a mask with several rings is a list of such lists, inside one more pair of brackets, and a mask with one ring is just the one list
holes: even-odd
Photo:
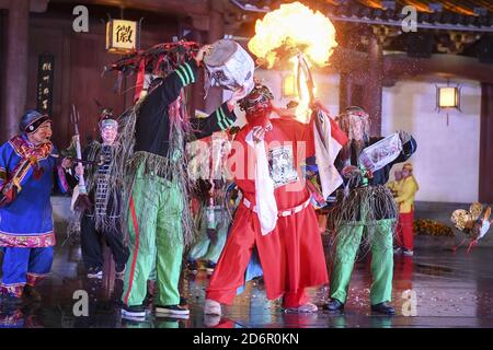
[[(305, 203), (310, 194), (302, 178), (299, 162), (314, 155), (312, 124), (291, 118), (271, 119), (273, 129), (265, 133), (270, 175), (274, 179), (274, 196), (278, 211)], [(253, 149), (245, 142), (253, 126), (241, 129), (234, 141), (230, 168), (234, 179), (252, 207), (241, 201), (231, 232), (207, 289), (207, 299), (231, 304), (237, 288), (244, 283), (244, 271), (254, 246), (259, 252), (267, 298), (284, 295), (285, 307), (298, 307), (308, 299), (306, 287), (328, 282), (322, 238), (314, 209), (308, 205), (300, 212), (278, 217), (274, 231), (262, 235), (255, 212), (255, 182), (253, 178)], [(276, 144), (272, 143), (275, 141)], [(237, 147), (241, 147), (237, 149)], [(237, 153), (234, 153), (234, 150)], [(242, 166), (243, 165), (243, 166)], [(296, 165), (296, 166), (295, 166)], [(297, 171), (295, 171), (295, 168)]]

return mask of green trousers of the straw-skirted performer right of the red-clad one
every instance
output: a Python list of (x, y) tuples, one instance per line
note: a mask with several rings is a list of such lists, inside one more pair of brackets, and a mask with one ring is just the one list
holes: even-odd
[[(393, 220), (379, 220), (371, 230), (371, 305), (390, 302), (392, 298)], [(356, 258), (362, 243), (364, 222), (344, 224), (337, 231), (335, 259), (331, 273), (331, 298), (342, 303), (346, 302), (347, 289)]]

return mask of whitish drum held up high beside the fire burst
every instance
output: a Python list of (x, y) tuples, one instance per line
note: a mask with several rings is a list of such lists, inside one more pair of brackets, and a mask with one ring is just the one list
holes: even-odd
[(254, 86), (252, 57), (236, 42), (221, 39), (213, 44), (213, 50), (204, 58), (206, 91), (209, 86), (237, 90), (245, 86), (245, 94)]

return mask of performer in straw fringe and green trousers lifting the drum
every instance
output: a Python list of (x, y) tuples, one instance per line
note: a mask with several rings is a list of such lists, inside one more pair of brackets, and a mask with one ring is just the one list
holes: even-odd
[(240, 89), (209, 117), (188, 118), (183, 88), (197, 80), (198, 67), (209, 49), (210, 46), (204, 46), (193, 59), (179, 61), (174, 71), (122, 117), (123, 156), (115, 159), (115, 168), (130, 180), (125, 194), (130, 256), (124, 279), (124, 318), (146, 317), (142, 303), (154, 265), (157, 315), (188, 315), (188, 310), (180, 305), (179, 292), (183, 249), (191, 243), (193, 232), (184, 145), (231, 127), (236, 120), (234, 104), (244, 95)]

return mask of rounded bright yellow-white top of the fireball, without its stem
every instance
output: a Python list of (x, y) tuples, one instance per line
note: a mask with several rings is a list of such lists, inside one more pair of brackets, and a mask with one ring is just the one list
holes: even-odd
[(249, 42), (252, 54), (268, 62), (272, 68), (279, 48), (303, 52), (318, 67), (328, 65), (335, 42), (335, 28), (321, 12), (313, 12), (300, 2), (282, 4), (255, 23), (255, 35)]

